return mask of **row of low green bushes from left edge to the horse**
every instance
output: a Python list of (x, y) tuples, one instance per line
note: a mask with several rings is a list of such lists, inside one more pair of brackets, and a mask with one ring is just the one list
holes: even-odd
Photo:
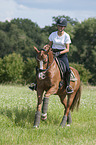
[(12, 53), (0, 58), (0, 82), (32, 83), (36, 82), (36, 59), (25, 62), (20, 54)]

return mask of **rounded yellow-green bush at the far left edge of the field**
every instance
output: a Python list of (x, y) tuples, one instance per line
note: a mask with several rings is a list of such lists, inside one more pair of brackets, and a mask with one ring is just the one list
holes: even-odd
[(0, 82), (22, 82), (24, 62), (20, 54), (10, 54), (0, 59)]

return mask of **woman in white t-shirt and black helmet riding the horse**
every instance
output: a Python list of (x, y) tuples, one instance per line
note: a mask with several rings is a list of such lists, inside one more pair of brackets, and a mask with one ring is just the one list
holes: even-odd
[[(52, 32), (49, 36), (49, 45), (55, 53), (56, 57), (64, 61), (66, 65), (66, 73), (64, 79), (66, 79), (66, 92), (68, 94), (73, 93), (73, 89), (70, 86), (70, 68), (67, 58), (67, 52), (69, 52), (69, 44), (71, 43), (70, 36), (64, 29), (67, 26), (67, 20), (65, 18), (60, 18), (57, 20), (58, 31)], [(32, 90), (36, 90), (36, 85), (29, 87)]]

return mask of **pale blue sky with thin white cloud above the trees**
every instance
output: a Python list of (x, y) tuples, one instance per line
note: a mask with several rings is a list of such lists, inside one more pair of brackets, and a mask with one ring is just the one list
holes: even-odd
[(52, 17), (63, 15), (79, 22), (96, 18), (96, 0), (0, 0), (1, 22), (27, 18), (44, 28), (52, 25)]

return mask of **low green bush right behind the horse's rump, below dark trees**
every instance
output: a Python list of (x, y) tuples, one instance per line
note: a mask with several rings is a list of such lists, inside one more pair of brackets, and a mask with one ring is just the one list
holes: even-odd
[(89, 70), (84, 68), (82, 64), (70, 63), (70, 66), (74, 67), (80, 75), (80, 79), (83, 83), (88, 83), (88, 80), (92, 77)]

